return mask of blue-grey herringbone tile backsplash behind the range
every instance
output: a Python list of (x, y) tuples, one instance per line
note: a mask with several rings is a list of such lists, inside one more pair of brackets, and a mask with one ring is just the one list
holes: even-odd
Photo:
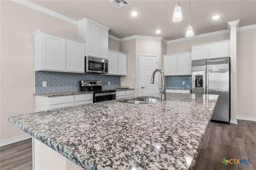
[[(120, 76), (117, 75), (36, 71), (35, 92), (51, 93), (64, 91), (78, 91), (80, 80), (102, 80), (102, 89), (115, 89), (116, 87), (120, 87)], [(43, 87), (43, 81), (47, 81), (47, 87)], [(110, 85), (108, 85), (108, 81), (110, 81)]]

